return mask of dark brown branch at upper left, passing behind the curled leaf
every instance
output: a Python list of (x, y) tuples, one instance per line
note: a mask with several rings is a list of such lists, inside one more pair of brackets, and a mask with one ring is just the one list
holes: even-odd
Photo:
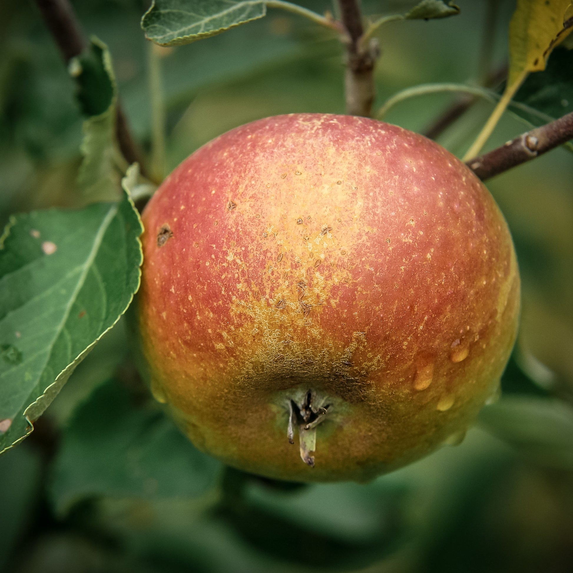
[[(86, 48), (84, 34), (69, 0), (36, 0), (36, 5), (66, 64), (79, 56)], [(138, 162), (142, 174), (145, 172), (142, 158), (129, 131), (127, 117), (117, 103), (116, 136), (121, 153), (128, 163)]]

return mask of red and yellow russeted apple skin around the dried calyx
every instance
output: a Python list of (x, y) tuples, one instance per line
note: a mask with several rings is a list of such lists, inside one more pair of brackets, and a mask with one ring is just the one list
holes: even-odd
[[(292, 114), (206, 144), (143, 213), (142, 371), (201, 450), (296, 481), (364, 481), (458, 441), (515, 342), (503, 215), (438, 144)], [(315, 467), (288, 398), (328, 395)], [(286, 398), (285, 398), (286, 397)]]

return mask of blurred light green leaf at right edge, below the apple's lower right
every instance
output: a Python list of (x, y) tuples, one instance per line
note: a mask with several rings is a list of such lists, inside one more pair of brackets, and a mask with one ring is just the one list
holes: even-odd
[(480, 413), (480, 422), (496, 437), (533, 461), (573, 470), (573, 408), (549, 398), (501, 398)]

